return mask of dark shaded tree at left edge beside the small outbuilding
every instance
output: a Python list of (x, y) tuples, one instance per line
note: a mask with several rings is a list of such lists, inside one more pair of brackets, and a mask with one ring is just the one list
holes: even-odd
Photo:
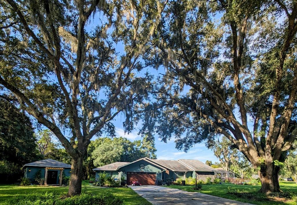
[(19, 174), (24, 164), (39, 160), (39, 155), (29, 117), (1, 97), (4, 96), (0, 95), (0, 174), (5, 175), (1, 177), (5, 181), (8, 176)]

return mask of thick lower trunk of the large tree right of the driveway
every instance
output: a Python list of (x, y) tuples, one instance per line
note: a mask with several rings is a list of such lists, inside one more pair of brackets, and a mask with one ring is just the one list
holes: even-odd
[(268, 194), (271, 192), (279, 192), (279, 167), (271, 166), (266, 168), (261, 168), (259, 171), (259, 176), (261, 180), (261, 189), (260, 192)]

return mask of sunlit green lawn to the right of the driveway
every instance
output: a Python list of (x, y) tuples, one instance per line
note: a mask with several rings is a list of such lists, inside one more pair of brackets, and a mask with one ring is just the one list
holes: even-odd
[[(279, 182), (281, 190), (289, 190), (297, 194), (297, 184), (295, 182)], [(170, 188), (180, 189), (189, 192), (200, 192), (203, 194), (209, 194), (213, 196), (218, 196), (222, 198), (232, 199), (235, 201), (246, 202), (250, 204), (259, 204), (259, 205), (297, 205), (296, 200), (285, 200), (283, 198), (267, 198), (265, 201), (252, 200), (250, 198), (238, 197), (233, 194), (227, 194), (228, 187), (239, 189), (244, 192), (248, 192), (254, 196), (259, 197), (261, 195), (258, 191), (261, 186), (252, 186), (252, 185), (237, 185), (237, 184), (211, 184), (203, 185), (202, 190), (193, 190), (193, 186), (180, 186), (180, 185), (170, 185)], [(266, 198), (263, 195), (263, 198)]]

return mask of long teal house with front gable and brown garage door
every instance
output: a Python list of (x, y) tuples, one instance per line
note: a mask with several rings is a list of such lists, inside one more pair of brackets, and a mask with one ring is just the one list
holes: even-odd
[(175, 181), (177, 178), (185, 179), (189, 176), (197, 180), (207, 177), (215, 178), (217, 170), (200, 162), (199, 160), (153, 160), (147, 157), (133, 162), (115, 162), (93, 169), (96, 179), (99, 174), (106, 172), (115, 179), (124, 177), (127, 184), (138, 181), (143, 185), (154, 185), (156, 180), (166, 182), (167, 179)]

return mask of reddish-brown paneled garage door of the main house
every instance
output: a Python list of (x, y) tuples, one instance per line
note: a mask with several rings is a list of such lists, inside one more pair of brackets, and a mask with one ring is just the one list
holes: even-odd
[(132, 185), (133, 181), (138, 181), (142, 185), (155, 185), (155, 172), (127, 172), (127, 184)]

